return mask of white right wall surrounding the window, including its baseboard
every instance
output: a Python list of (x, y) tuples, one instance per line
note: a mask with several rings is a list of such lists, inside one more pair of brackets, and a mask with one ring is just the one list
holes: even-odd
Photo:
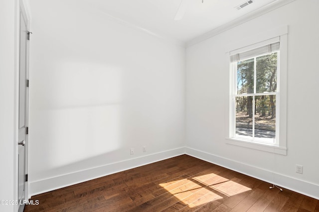
[[(318, 8), (318, 0), (296, 0), (186, 49), (186, 152), (319, 198)], [(226, 144), (226, 47), (283, 25), (289, 25), (287, 156)], [(302, 175), (296, 164), (304, 166)]]

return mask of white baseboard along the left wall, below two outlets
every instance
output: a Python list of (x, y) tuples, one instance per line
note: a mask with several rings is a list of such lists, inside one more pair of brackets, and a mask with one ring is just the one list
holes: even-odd
[(75, 173), (69, 173), (62, 176), (52, 177), (39, 181), (29, 182), (28, 199), (31, 196), (42, 194), (48, 191), (53, 191), (63, 187), (71, 186), (74, 184), (82, 183), (88, 180), (93, 180), (99, 177), (107, 176), (117, 172), (125, 171), (128, 169), (136, 168), (139, 166), (154, 163), (167, 158), (175, 157), (185, 154), (185, 147), (158, 152), (155, 154), (137, 157), (129, 160), (120, 161), (113, 164), (106, 164), (92, 169), (82, 170)]

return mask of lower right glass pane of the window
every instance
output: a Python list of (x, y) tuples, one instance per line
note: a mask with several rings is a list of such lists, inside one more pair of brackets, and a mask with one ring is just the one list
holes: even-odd
[(255, 96), (255, 140), (275, 143), (276, 96)]

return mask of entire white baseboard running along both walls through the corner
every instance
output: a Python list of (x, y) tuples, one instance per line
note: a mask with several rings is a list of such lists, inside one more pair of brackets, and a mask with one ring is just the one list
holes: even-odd
[(77, 183), (82, 183), (88, 180), (96, 179), (99, 177), (107, 176), (117, 172), (125, 171), (128, 169), (136, 168), (139, 166), (147, 165), (167, 158), (175, 157), (178, 155), (187, 154), (195, 158), (225, 167), (227, 169), (260, 179), (262, 181), (274, 183), (280, 187), (304, 194), (306, 196), (319, 200), (319, 185), (301, 181), (292, 177), (274, 173), (269, 170), (254, 167), (248, 164), (243, 164), (238, 161), (223, 158), (200, 150), (181, 147), (171, 149), (164, 152), (159, 152), (143, 157), (124, 160), (113, 164), (82, 170), (75, 173), (70, 173), (62, 176), (57, 176), (49, 179), (29, 182), (28, 199), (31, 196), (42, 194), (55, 189), (60, 189), (66, 186), (71, 186)]

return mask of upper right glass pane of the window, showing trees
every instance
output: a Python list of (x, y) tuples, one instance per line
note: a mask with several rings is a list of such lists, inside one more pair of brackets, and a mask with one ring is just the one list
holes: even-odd
[(256, 92), (276, 92), (277, 52), (256, 58)]

